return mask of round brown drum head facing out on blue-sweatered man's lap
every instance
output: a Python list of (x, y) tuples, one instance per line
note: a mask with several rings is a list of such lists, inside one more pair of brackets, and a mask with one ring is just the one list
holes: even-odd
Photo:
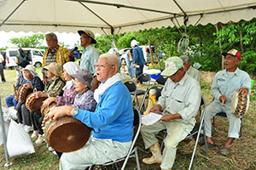
[(49, 145), (60, 152), (79, 150), (90, 137), (90, 128), (79, 122), (66, 122), (49, 130)]

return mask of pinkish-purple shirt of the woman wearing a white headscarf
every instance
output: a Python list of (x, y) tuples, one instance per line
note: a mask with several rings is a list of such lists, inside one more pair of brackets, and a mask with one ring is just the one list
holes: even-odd
[(73, 105), (75, 96), (78, 93), (75, 91), (74, 83), (70, 88), (64, 90), (63, 96), (57, 97), (57, 105)]

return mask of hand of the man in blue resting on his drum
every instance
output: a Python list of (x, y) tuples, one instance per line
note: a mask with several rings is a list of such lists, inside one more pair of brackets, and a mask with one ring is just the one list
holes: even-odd
[(48, 115), (51, 120), (55, 121), (58, 117), (72, 116), (71, 111), (74, 108), (75, 107), (71, 105), (62, 105), (62, 106), (54, 107), (51, 111), (49, 111)]

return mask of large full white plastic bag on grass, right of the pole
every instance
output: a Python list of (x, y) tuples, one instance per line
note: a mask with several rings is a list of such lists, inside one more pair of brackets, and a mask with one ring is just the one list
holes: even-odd
[(24, 128), (15, 121), (11, 121), (9, 124), (7, 150), (10, 157), (35, 152), (32, 139), (29, 134), (26, 133)]

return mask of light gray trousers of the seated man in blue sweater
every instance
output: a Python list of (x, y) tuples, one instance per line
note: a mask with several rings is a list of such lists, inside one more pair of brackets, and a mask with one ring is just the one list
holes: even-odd
[(83, 148), (63, 153), (60, 160), (61, 170), (84, 170), (93, 164), (100, 165), (115, 161), (127, 155), (131, 142), (117, 142), (112, 139), (96, 139), (90, 136)]

